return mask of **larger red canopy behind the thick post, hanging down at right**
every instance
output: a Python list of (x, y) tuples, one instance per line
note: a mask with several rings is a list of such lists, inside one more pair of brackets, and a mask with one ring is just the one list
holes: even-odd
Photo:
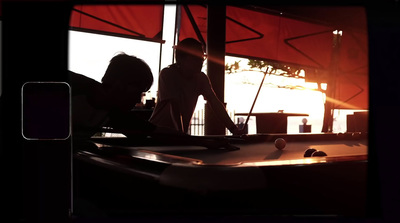
[[(340, 13), (340, 9), (332, 8), (331, 11)], [(329, 70), (332, 66), (333, 31), (343, 28), (337, 64), (335, 108), (368, 109), (366, 15), (362, 8), (351, 9), (344, 7), (343, 11), (357, 15), (361, 23), (358, 22), (356, 28), (349, 27), (348, 23), (353, 22), (351, 20), (323, 25), (299, 18), (288, 18), (279, 13), (276, 15), (272, 12), (227, 6), (226, 54), (294, 64), (309, 71)], [(192, 37), (206, 42), (207, 8), (190, 5), (182, 6), (181, 11), (179, 39)], [(329, 11), (328, 7), (327, 12)], [(363, 19), (360, 20), (360, 17)], [(194, 24), (190, 18), (195, 21)], [(310, 73), (311, 75), (314, 76)], [(326, 77), (313, 77), (310, 80), (324, 82)]]

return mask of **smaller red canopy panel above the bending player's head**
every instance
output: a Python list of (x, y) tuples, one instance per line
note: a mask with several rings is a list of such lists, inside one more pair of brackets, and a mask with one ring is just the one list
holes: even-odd
[(163, 42), (164, 6), (77, 5), (71, 13), (73, 30)]

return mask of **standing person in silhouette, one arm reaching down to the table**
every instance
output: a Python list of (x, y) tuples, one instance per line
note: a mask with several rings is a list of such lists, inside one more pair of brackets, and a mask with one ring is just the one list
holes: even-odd
[(232, 134), (244, 134), (215, 95), (208, 76), (201, 72), (205, 59), (202, 44), (187, 38), (178, 43), (175, 52), (176, 63), (160, 72), (157, 104), (149, 121), (187, 133), (198, 97), (203, 95)]

